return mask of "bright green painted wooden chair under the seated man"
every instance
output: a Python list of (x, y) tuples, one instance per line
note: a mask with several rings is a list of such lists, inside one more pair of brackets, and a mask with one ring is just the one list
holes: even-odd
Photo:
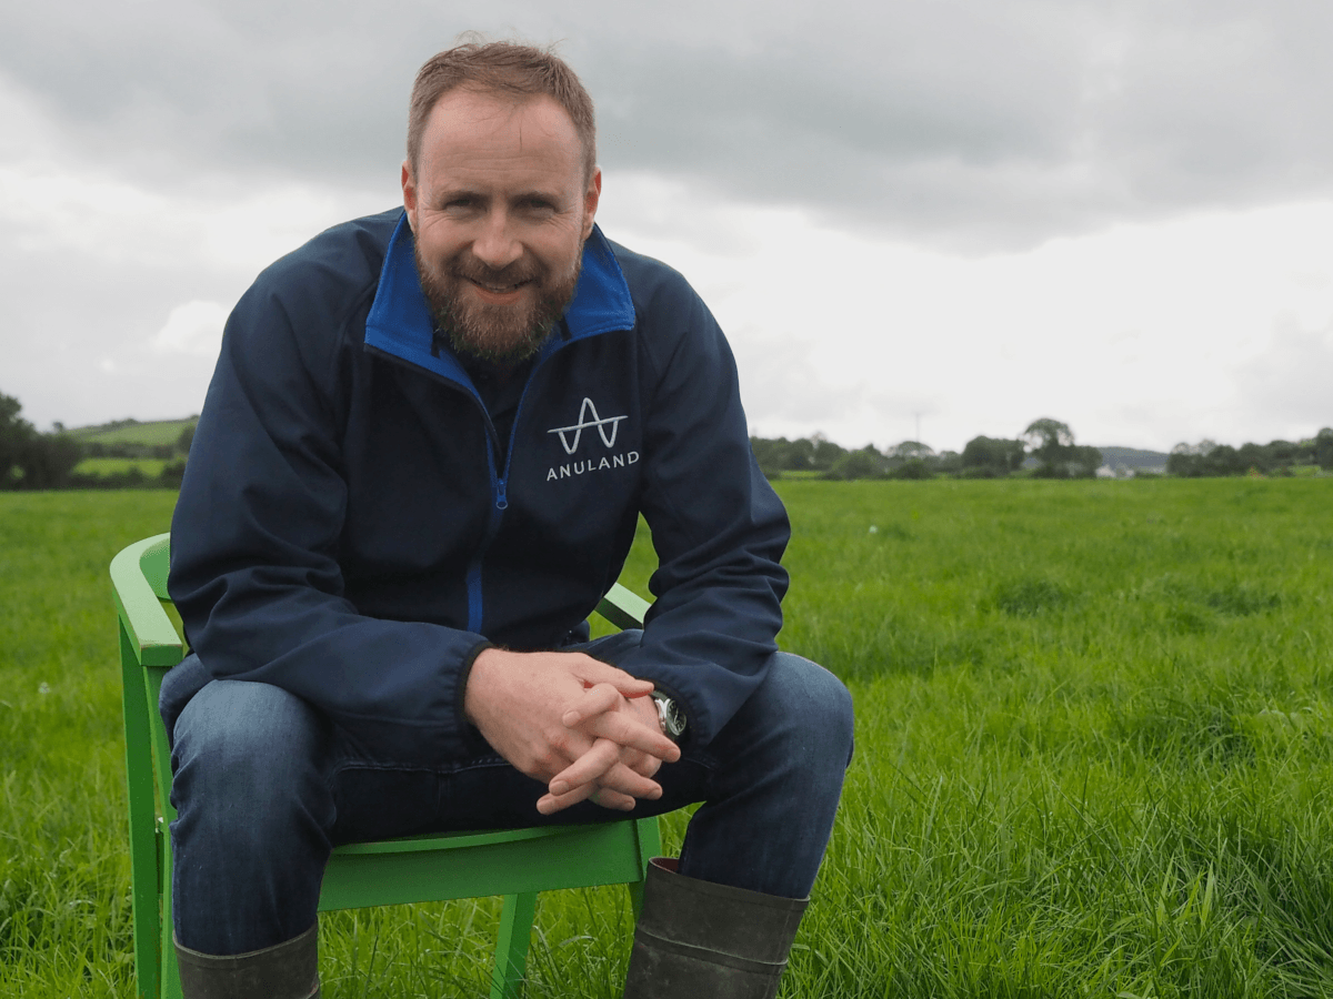
[[(136, 542), (111, 562), (120, 614), (125, 777), (135, 972), (143, 999), (179, 999), (172, 946), (171, 754), (157, 714), (163, 675), (185, 650), (167, 614), (171, 537)], [(617, 627), (641, 627), (648, 603), (623, 586), (597, 607)], [(648, 860), (661, 850), (657, 819), (596, 826), (460, 832), (337, 847), (324, 874), (320, 911), (504, 895), (492, 999), (515, 999), (524, 976), (537, 892), (625, 884), (635, 915)]]

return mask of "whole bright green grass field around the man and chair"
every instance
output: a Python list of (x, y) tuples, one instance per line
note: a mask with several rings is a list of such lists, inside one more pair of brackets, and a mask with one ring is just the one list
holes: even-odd
[[(785, 996), (1333, 995), (1333, 482), (777, 488), (857, 706)], [(132, 995), (105, 566), (172, 501), (0, 494), (0, 995)], [(497, 915), (325, 918), (324, 994), (481, 995)], [(539, 932), (529, 996), (619, 995), (623, 892)]]

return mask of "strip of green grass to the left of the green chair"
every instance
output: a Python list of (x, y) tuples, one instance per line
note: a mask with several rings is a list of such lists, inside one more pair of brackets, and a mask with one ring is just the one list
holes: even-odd
[(0, 494), (0, 995), (132, 994), (107, 566), (175, 500)]

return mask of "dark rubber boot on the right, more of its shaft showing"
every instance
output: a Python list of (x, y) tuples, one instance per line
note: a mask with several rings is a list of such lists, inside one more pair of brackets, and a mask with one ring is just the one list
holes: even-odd
[(656, 858), (625, 999), (772, 999), (806, 903), (686, 878)]

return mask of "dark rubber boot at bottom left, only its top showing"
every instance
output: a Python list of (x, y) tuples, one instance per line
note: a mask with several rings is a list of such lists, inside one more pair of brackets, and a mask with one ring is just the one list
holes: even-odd
[(185, 999), (319, 999), (320, 924), (248, 954), (200, 954), (176, 943)]

